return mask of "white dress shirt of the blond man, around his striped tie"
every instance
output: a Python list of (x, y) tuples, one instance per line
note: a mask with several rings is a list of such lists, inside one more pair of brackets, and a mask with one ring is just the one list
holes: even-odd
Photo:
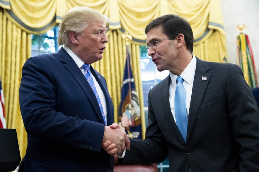
[[(82, 66), (83, 64), (85, 64), (85, 62), (83, 62), (80, 57), (78, 57), (72, 50), (70, 50), (67, 46), (64, 46), (63, 47), (64, 50), (72, 57), (72, 59), (76, 62), (78, 68), (81, 70), (81, 72), (83, 74), (85, 74), (85, 71), (84, 69), (82, 69)], [(105, 116), (105, 121), (107, 122), (107, 106), (106, 106), (106, 100), (105, 100), (105, 96), (104, 96), (104, 93), (103, 91), (101, 90), (101, 87), (100, 85), (98, 84), (98, 82), (96, 81), (95, 77), (93, 76), (92, 74), (92, 77), (93, 77), (93, 82), (94, 82), (94, 85), (96, 87), (96, 90), (98, 92), (98, 95), (99, 95), (99, 98), (101, 100), (101, 104), (102, 104), (102, 107), (103, 107), (103, 110), (104, 110), (104, 116)], [(85, 80), (86, 81), (86, 80)], [(83, 100), (82, 100), (83, 101)]]

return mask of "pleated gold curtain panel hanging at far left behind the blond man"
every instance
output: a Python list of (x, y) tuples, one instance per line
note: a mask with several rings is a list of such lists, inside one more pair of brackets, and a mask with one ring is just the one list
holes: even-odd
[(31, 34), (21, 30), (0, 8), (0, 76), (4, 90), (4, 108), (7, 128), (17, 131), (19, 148), (24, 156), (27, 133), (19, 106), (19, 86), (24, 62), (31, 56)]

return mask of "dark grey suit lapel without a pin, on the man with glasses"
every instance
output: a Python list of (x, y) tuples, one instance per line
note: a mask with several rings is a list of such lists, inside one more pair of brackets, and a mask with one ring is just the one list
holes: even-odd
[(164, 85), (161, 87), (161, 106), (163, 106), (163, 112), (162, 115), (165, 115), (166, 121), (168, 122), (169, 126), (173, 130), (174, 134), (178, 137), (178, 139), (182, 142), (182, 144), (185, 145), (185, 141), (182, 138), (181, 133), (179, 132), (179, 129), (174, 121), (170, 103), (169, 103), (169, 85), (171, 82), (170, 75), (163, 81)]

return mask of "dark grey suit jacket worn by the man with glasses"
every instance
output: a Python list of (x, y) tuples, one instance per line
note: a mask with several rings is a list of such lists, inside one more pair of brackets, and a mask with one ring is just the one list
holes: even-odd
[(197, 58), (186, 143), (170, 110), (170, 82), (150, 90), (146, 139), (131, 139), (119, 163), (160, 163), (169, 155), (171, 172), (259, 171), (259, 109), (240, 67)]

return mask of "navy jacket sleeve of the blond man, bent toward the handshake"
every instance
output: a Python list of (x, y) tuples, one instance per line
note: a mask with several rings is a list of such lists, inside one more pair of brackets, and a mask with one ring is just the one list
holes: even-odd
[[(69, 81), (65, 83), (67, 77), (62, 75), (63, 71), (59, 71), (63, 65), (56, 65), (55, 73), (61, 74), (58, 78), (53, 74), (54, 71), (50, 70), (51, 63), (53, 61), (48, 64), (46, 60), (32, 57), (23, 66), (19, 100), (26, 132), (31, 137), (78, 148), (92, 145), (88, 150), (99, 152), (104, 135), (104, 124), (60, 111), (60, 107), (66, 106), (76, 113), (78, 101), (82, 100), (72, 102), (67, 98), (58, 102), (61, 92), (63, 96), (69, 96), (66, 90), (60, 89), (61, 87), (58, 90), (58, 85), (66, 85)], [(68, 90), (73, 92), (76, 88), (68, 86)], [(85, 113), (92, 115), (93, 112), (89, 108)]]

